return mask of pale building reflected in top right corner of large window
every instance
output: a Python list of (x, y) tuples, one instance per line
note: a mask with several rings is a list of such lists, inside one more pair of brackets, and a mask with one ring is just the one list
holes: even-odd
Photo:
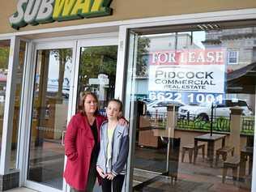
[(227, 67), (227, 70), (237, 70), (256, 61), (255, 30), (256, 28), (254, 27), (207, 31), (203, 45), (205, 45), (206, 49), (227, 49), (227, 64), (231, 64)]

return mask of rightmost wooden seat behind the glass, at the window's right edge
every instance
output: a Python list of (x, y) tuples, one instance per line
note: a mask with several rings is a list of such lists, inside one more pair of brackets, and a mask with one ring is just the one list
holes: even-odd
[(253, 169), (254, 147), (243, 147), (240, 151), (239, 181), (245, 181), (246, 161), (249, 159), (249, 175)]

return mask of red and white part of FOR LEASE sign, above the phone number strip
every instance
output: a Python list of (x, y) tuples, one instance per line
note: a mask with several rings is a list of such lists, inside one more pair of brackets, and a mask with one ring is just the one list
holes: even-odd
[(153, 52), (149, 61), (149, 91), (224, 93), (224, 49)]

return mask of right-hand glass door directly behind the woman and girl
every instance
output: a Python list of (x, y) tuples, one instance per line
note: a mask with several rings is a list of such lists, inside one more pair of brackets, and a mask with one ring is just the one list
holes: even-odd
[[(117, 94), (117, 37), (105, 36), (79, 41), (77, 62), (79, 70), (75, 79), (78, 82), (75, 83), (77, 92), (74, 93), (77, 95), (76, 100), (73, 100), (75, 109), (80, 108), (84, 92), (94, 92), (99, 100), (99, 111), (105, 115), (108, 100)], [(100, 186), (96, 184), (94, 191), (101, 191)]]

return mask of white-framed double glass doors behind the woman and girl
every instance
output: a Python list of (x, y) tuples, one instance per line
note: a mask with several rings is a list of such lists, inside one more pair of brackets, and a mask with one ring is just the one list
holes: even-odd
[(66, 124), (83, 92), (95, 92), (105, 114), (107, 100), (115, 95), (117, 38), (38, 44), (34, 63), (25, 186), (69, 191), (62, 177)]

